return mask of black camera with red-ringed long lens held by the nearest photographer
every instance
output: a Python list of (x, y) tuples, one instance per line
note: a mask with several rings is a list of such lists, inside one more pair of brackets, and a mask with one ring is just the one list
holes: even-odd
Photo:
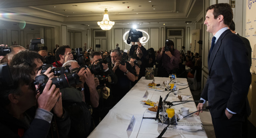
[[(49, 78), (44, 75), (40, 74), (36, 76), (34, 85), (38, 85), (38, 91), (42, 94), (46, 83), (48, 82)], [(69, 87), (72, 84), (79, 84), (79, 76), (76, 72), (62, 74), (58, 77), (54, 77), (51, 79), (52, 84), (55, 84), (57, 88), (63, 89)]]

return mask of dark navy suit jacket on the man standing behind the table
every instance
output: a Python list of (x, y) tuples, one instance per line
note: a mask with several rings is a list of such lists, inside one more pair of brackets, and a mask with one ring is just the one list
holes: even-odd
[(209, 76), (201, 97), (212, 106), (214, 118), (220, 117), (226, 108), (245, 114), (251, 73), (244, 47), (238, 35), (226, 30), (208, 54)]

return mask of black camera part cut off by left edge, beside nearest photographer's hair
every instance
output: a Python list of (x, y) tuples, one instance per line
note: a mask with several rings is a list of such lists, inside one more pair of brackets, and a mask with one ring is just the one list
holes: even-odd
[(0, 64), (0, 85), (12, 86), (12, 75), (7, 63)]

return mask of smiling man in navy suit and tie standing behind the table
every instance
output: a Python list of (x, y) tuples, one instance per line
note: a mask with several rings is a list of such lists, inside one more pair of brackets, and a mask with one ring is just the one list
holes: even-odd
[[(240, 37), (228, 29), (233, 19), (229, 4), (214, 4), (206, 11), (206, 31), (214, 37), (208, 53), (209, 76), (201, 99), (212, 107), (210, 113), (217, 138), (242, 137), (246, 97), (251, 83), (248, 52)], [(198, 110), (204, 103), (198, 104)]]

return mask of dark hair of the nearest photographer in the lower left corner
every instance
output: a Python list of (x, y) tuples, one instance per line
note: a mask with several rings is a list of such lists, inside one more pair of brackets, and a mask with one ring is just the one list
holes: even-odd
[(9, 94), (20, 95), (20, 87), (23, 85), (30, 85), (29, 87), (36, 91), (36, 88), (33, 84), (34, 81), (34, 71), (31, 71), (32, 68), (26, 63), (10, 66), (10, 73), (12, 75), (13, 86), (0, 86), (0, 104), (1, 106), (6, 106), (10, 103), (8, 99)]

